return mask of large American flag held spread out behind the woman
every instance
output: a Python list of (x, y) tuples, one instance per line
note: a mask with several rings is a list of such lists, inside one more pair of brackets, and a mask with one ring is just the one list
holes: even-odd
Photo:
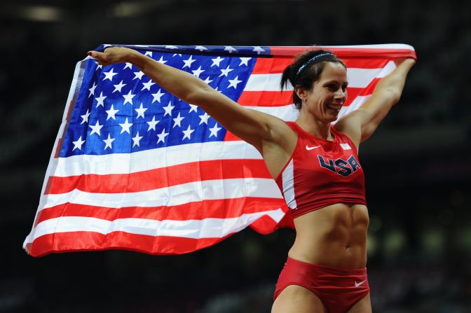
[[(104, 50), (102, 45), (95, 50)], [(113, 45), (123, 46), (123, 45)], [(126, 46), (188, 71), (240, 105), (296, 120), (280, 77), (293, 57), (321, 47)], [(356, 109), (403, 44), (329, 46), (348, 67)], [(77, 63), (62, 125), (23, 248), (52, 252), (196, 251), (251, 226), (289, 225), (287, 206), (255, 148), (202, 109), (171, 95), (132, 64)]]

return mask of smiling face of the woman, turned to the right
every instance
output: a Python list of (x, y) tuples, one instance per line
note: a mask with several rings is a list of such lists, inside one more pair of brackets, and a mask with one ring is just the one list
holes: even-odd
[(318, 81), (310, 90), (296, 88), (303, 104), (302, 111), (322, 121), (331, 123), (339, 116), (339, 111), (347, 99), (347, 70), (340, 63), (327, 62)]

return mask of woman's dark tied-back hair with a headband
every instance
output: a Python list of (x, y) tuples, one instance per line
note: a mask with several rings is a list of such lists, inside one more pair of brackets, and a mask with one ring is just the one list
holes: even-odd
[[(340, 63), (343, 67), (347, 68), (345, 63), (331, 51), (310, 50), (296, 57), (294, 62), (283, 71), (280, 82), (281, 90), (287, 87), (288, 82), (293, 87), (301, 86), (306, 88), (306, 90), (310, 90), (310, 88), (313, 88), (313, 83), (319, 80), (326, 62)], [(301, 99), (299, 99), (294, 90), (293, 102), (296, 109), (301, 109)]]

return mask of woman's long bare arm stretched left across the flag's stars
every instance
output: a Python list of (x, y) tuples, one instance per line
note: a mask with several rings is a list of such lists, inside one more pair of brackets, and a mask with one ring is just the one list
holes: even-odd
[(261, 153), (262, 141), (278, 141), (282, 138), (280, 131), (287, 127), (274, 116), (245, 109), (196, 76), (156, 62), (135, 50), (113, 47), (107, 48), (103, 53), (90, 51), (88, 55), (103, 65), (121, 62), (134, 64), (162, 88), (184, 102), (199, 106), (227, 130), (255, 146)]

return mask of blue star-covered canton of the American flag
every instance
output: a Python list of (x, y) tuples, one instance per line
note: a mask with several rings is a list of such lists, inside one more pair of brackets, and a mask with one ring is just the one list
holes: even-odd
[[(211, 48), (215, 53), (228, 51), (227, 47)], [(138, 51), (201, 78), (234, 101), (256, 60), (240, 54), (198, 55), (197, 49), (194, 54)], [(132, 64), (102, 67), (90, 59), (59, 156), (131, 153), (223, 141), (225, 135), (224, 127), (202, 109), (171, 95)]]

